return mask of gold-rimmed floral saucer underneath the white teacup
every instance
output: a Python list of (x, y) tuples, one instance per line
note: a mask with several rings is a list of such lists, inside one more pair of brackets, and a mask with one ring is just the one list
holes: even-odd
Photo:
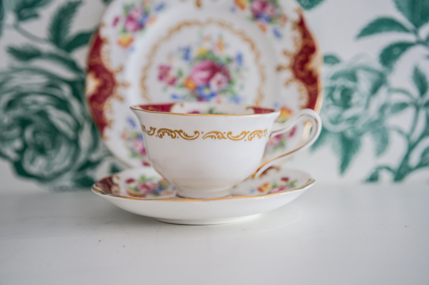
[(176, 196), (175, 187), (153, 168), (126, 169), (97, 181), (92, 191), (119, 208), (165, 223), (212, 225), (256, 217), (293, 201), (314, 184), (303, 171), (272, 167), (215, 199)]

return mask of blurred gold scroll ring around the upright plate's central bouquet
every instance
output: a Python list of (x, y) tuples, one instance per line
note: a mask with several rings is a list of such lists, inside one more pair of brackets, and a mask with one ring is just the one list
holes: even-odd
[(265, 66), (261, 63), (262, 55), (261, 55), (261, 52), (258, 50), (257, 45), (255, 44), (253, 39), (245, 33), (244, 30), (237, 30), (230, 23), (225, 23), (224, 21), (214, 20), (211, 18), (208, 18), (205, 21), (190, 20), (190, 21), (180, 22), (176, 26), (170, 28), (169, 31), (167, 32), (167, 34), (165, 36), (161, 37), (158, 40), (158, 42), (156, 42), (152, 46), (152, 48), (151, 48), (151, 50), (147, 56), (147, 64), (142, 68), (142, 77), (140, 78), (140, 88), (142, 90), (141, 95), (142, 95), (142, 98), (145, 99), (145, 101), (151, 102), (151, 100), (148, 96), (148, 86), (146, 86), (146, 79), (148, 77), (148, 70), (152, 65), (152, 60), (155, 58), (155, 53), (157, 52), (157, 50), (159, 50), (160, 45), (163, 42), (170, 39), (172, 37), (172, 35), (174, 35), (175, 33), (178, 33), (184, 27), (192, 27), (192, 26), (204, 27), (204, 26), (207, 26), (210, 24), (218, 25), (218, 26), (230, 31), (234, 35), (239, 36), (244, 42), (246, 42), (249, 45), (249, 47), (253, 51), (253, 53), (255, 55), (255, 63), (257, 65), (259, 77), (260, 77), (260, 84), (257, 88), (257, 98), (255, 100), (255, 105), (259, 106), (262, 103), (263, 98), (265, 96), (264, 92), (263, 92), (263, 86), (265, 84), (266, 75), (265, 75)]

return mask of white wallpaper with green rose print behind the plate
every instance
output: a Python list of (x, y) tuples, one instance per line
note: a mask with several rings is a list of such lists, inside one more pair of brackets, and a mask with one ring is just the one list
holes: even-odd
[[(0, 157), (11, 179), (74, 190), (123, 168), (84, 100), (87, 45), (108, 2), (2, 0)], [(428, 183), (429, 0), (298, 2), (324, 60), (323, 131), (298, 164), (317, 172), (323, 160), (330, 181)], [(332, 20), (356, 5), (373, 9), (360, 24)]]

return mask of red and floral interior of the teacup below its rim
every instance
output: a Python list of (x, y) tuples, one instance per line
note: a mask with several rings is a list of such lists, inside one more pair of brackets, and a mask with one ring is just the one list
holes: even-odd
[(193, 114), (193, 115), (215, 115), (234, 116), (266, 114), (275, 112), (272, 108), (246, 106), (231, 103), (215, 102), (177, 102), (160, 104), (142, 104), (132, 106), (131, 109), (143, 110), (157, 113)]

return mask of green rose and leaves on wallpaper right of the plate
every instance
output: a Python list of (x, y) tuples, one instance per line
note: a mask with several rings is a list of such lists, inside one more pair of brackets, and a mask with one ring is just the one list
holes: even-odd
[[(410, 88), (398, 88), (391, 79), (400, 59), (406, 53), (415, 52), (414, 47), (429, 51), (429, 34), (422, 37), (428, 33), (422, 27), (429, 23), (429, 1), (394, 0), (393, 5), (403, 17), (376, 18), (356, 36), (358, 40), (368, 41), (384, 33), (396, 35), (393, 42), (381, 47), (378, 55), (381, 66), (377, 67), (370, 58), (344, 62), (333, 54), (324, 57), (327, 72), (321, 111), (323, 136), (319, 140), (331, 143), (338, 154), (339, 173), (347, 172), (366, 137), (372, 138), (375, 157), (387, 153), (394, 136), (404, 142), (405, 150), (399, 154), (398, 163), (375, 166), (366, 182), (378, 181), (382, 172), (390, 174), (393, 181), (403, 181), (411, 173), (429, 168), (428, 76), (419, 66), (428, 66), (429, 57), (423, 56), (415, 63), (408, 75)], [(393, 123), (393, 119), (403, 114), (410, 118), (409, 128)], [(322, 144), (317, 142), (313, 149)], [(416, 156), (419, 151), (419, 159), (413, 161), (411, 154)]]

